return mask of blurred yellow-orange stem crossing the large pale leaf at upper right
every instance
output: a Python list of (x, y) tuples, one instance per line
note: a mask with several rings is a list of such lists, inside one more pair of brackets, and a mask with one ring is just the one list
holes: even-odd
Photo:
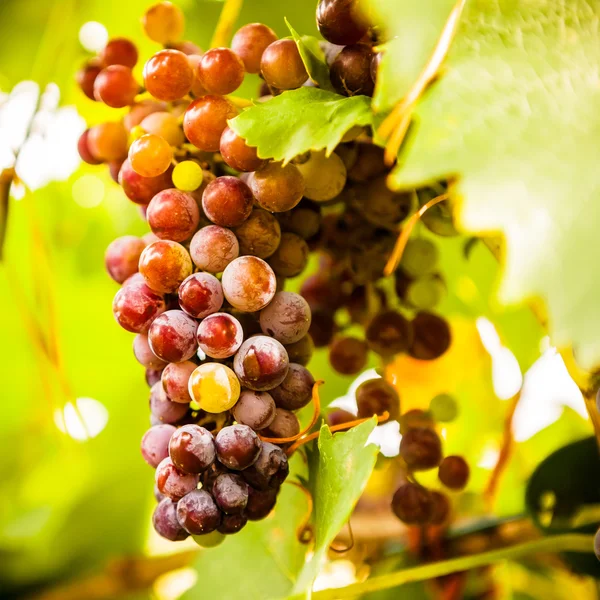
[(379, 127), (379, 135), (387, 140), (384, 158), (386, 164), (390, 166), (396, 161), (398, 151), (400, 150), (402, 141), (408, 131), (412, 113), (417, 101), (427, 89), (427, 86), (437, 77), (442, 62), (444, 62), (444, 59), (450, 50), (452, 40), (458, 30), (460, 16), (465, 6), (465, 2), (466, 0), (458, 0), (456, 2), (450, 15), (448, 15), (442, 33), (436, 42), (429, 60), (423, 67), (423, 70), (419, 73), (419, 76), (408, 90), (407, 94), (394, 107), (392, 112)]

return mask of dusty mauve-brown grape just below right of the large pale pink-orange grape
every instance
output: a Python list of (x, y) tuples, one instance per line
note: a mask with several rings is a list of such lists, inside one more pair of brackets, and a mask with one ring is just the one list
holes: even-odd
[(260, 313), (263, 333), (282, 344), (299, 341), (308, 333), (310, 322), (308, 302), (294, 292), (277, 292)]

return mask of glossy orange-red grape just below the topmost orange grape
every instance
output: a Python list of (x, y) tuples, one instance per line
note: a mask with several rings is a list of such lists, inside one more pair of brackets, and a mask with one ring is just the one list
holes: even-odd
[(144, 85), (158, 100), (173, 102), (183, 98), (193, 82), (192, 67), (179, 50), (161, 50), (144, 65)]

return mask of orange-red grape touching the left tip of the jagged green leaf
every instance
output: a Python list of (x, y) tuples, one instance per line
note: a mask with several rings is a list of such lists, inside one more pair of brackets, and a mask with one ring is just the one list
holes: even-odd
[(227, 121), (237, 114), (237, 108), (227, 98), (207, 94), (194, 100), (185, 111), (183, 131), (200, 150), (217, 152)]

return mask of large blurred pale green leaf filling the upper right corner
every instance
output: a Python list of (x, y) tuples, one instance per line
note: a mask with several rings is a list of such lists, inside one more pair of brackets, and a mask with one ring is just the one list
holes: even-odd
[[(372, 2), (398, 20), (410, 4)], [(506, 238), (501, 300), (542, 297), (553, 343), (586, 367), (600, 362), (600, 280), (585, 260), (600, 226), (599, 18), (584, 0), (467, 3), (390, 178), (458, 176), (459, 224)]]

